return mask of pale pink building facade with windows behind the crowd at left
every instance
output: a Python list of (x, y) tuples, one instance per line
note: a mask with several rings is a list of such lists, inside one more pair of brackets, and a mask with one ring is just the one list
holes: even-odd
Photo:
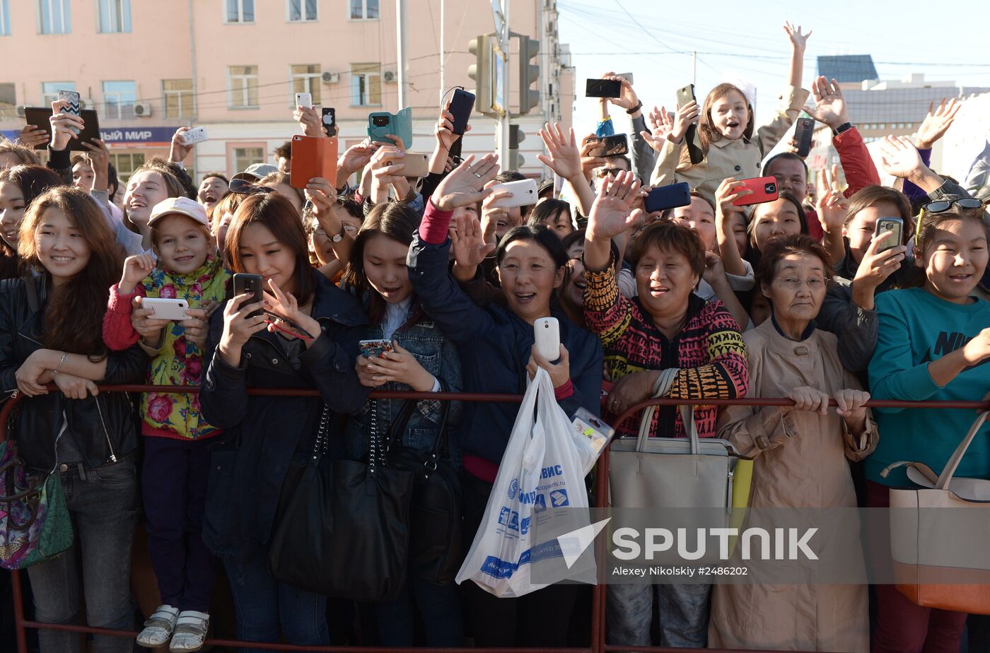
[[(474, 85), (467, 45), (493, 31), (491, 4), (406, 7), (409, 149), (428, 152), (442, 91)], [(557, 42), (553, 0), (515, 0), (510, 22), (541, 45), (539, 111), (513, 121), (530, 136), (520, 145), (524, 172), (540, 176), (535, 133), (547, 120), (569, 126), (573, 72)], [(401, 109), (396, 23), (396, 0), (0, 0), (0, 130), (16, 136), (20, 107), (47, 106), (58, 90), (75, 90), (84, 108), (98, 111), (122, 179), (167, 154), (178, 127), (205, 127), (209, 140), (185, 161), (198, 179), (273, 162), (272, 150), (299, 133), (292, 111), (295, 93), (305, 91), (336, 109), (343, 151), (366, 136), (369, 113)], [(471, 126), (465, 155), (491, 151), (494, 121), (476, 113)]]

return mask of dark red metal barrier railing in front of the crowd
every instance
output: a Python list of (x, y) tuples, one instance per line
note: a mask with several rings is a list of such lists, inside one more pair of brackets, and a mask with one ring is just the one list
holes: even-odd
[[(108, 385), (100, 386), (100, 392), (167, 392), (174, 394), (198, 393), (200, 388), (196, 386), (153, 386), (153, 385)], [(49, 391), (57, 392), (53, 385)], [(276, 397), (319, 397), (317, 390), (298, 390), (282, 388), (248, 388), (247, 394), (251, 396), (268, 395)], [(0, 409), (0, 442), (6, 438), (7, 420), (11, 412), (24, 399), (25, 395), (18, 394), (11, 397)], [(370, 393), (371, 399), (433, 399), (439, 401), (462, 401), (462, 402), (486, 402), (486, 403), (519, 403), (522, 395), (500, 395), (482, 393), (429, 393), (429, 392), (408, 392), (408, 391), (373, 391)], [(679, 406), (686, 403), (678, 399), (650, 399), (628, 408), (620, 415), (615, 423), (619, 424), (636, 415), (648, 406)], [(704, 406), (793, 406), (789, 399), (782, 398), (743, 398), (743, 399), (706, 399)], [(833, 400), (830, 405), (835, 407)], [(988, 410), (990, 402), (901, 402), (888, 400), (870, 400), (866, 406), (869, 408), (931, 408), (931, 409), (959, 409), (959, 410)], [(599, 507), (606, 505), (608, 497), (608, 477), (609, 477), (609, 451), (606, 449), (596, 465), (595, 495)], [(604, 548), (597, 547), (599, 561), (602, 560)], [(24, 615), (24, 597), (21, 584), (20, 571), (11, 572), (11, 586), (13, 590), (14, 622), (17, 635), (18, 653), (28, 653), (28, 629), (62, 630), (76, 633), (91, 633), (115, 635), (119, 637), (129, 637), (134, 639), (138, 636), (137, 631), (114, 630), (110, 628), (96, 628), (81, 624), (65, 623), (45, 623), (42, 621), (29, 621)], [(589, 646), (571, 648), (447, 648), (443, 649), (450, 653), (518, 653), (519, 651), (542, 651), (545, 653), (605, 653), (607, 651), (637, 651), (644, 653), (682, 653), (684, 651), (706, 650), (709, 653), (771, 653), (770, 651), (759, 651), (746, 649), (685, 649), (685, 648), (665, 648), (659, 646), (619, 646), (605, 643), (605, 586), (597, 585), (592, 591), (591, 602), (591, 641)], [(244, 642), (233, 639), (206, 640), (206, 644), (213, 646), (234, 646), (246, 649), (275, 649), (279, 651), (324, 651), (332, 653), (401, 653), (403, 651), (418, 651), (419, 648), (387, 648), (381, 646), (298, 646), (293, 644), (282, 644), (277, 642)]]

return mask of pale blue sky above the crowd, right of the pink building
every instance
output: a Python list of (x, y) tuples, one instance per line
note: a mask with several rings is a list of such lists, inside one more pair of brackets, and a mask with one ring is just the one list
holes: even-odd
[(921, 72), (926, 80), (990, 86), (990, 4), (982, 2), (557, 0), (557, 10), (560, 41), (570, 46), (577, 71), (578, 133), (587, 133), (581, 126), (591, 131), (597, 115), (596, 100), (584, 97), (587, 77), (633, 72), (644, 105), (672, 110), (676, 89), (691, 82), (692, 49), (699, 101), (719, 82), (745, 82), (757, 89), (757, 120), (763, 120), (786, 80), (785, 20), (814, 31), (805, 88), (821, 54), (871, 54), (881, 79)]

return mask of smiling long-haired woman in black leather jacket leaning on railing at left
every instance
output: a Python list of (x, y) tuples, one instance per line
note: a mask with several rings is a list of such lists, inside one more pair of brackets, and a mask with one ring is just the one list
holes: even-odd
[[(28, 568), (35, 610), (39, 621), (74, 622), (81, 571), (88, 624), (128, 629), (138, 438), (127, 395), (96, 391), (139, 383), (148, 366), (140, 347), (109, 352), (102, 341), (120, 252), (96, 203), (65, 186), (32, 202), (18, 251), (29, 271), (0, 284), (0, 384), (8, 396), (28, 396), (10, 433), (29, 468), (60, 474), (75, 530), (72, 548)], [(42, 630), (39, 641), (43, 652), (79, 650), (74, 633)], [(106, 635), (94, 644), (100, 653), (132, 646)]]

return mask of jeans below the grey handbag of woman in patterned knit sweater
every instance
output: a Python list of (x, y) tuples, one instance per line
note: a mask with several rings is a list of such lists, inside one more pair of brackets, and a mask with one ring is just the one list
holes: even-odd
[(609, 644), (649, 646), (655, 607), (658, 646), (707, 645), (711, 585), (609, 585), (607, 592), (605, 632)]

